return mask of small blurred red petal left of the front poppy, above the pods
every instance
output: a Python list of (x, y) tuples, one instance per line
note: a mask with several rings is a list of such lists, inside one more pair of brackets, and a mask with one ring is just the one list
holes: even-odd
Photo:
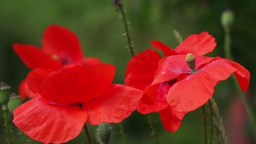
[(19, 95), (21, 96), (22, 100), (26, 99), (26, 96), (30, 99), (40, 96), (39, 94), (35, 94), (29, 90), (29, 87), (27, 85), (27, 78), (22, 80), (19, 85)]

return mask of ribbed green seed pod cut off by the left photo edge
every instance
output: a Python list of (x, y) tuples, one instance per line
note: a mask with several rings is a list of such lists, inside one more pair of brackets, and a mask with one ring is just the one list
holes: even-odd
[(5, 82), (0, 83), (0, 103), (7, 104), (10, 98), (11, 86)]

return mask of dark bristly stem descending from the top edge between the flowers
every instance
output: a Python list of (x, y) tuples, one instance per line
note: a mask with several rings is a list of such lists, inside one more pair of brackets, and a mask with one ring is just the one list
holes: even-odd
[(129, 31), (129, 27), (128, 27), (128, 22), (126, 20), (126, 16), (125, 16), (125, 11), (123, 8), (123, 2), (122, 0), (113, 0), (113, 5), (116, 6), (116, 10), (120, 11), (122, 19), (123, 19), (123, 24), (125, 27), (125, 35), (127, 37), (127, 42), (128, 42), (128, 46), (129, 46), (129, 51), (131, 53), (132, 56), (135, 55), (134, 50), (133, 50), (133, 45), (132, 45), (132, 41), (131, 41), (131, 33)]

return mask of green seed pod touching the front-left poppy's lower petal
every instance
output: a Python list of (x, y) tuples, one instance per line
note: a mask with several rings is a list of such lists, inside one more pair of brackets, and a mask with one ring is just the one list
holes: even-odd
[(11, 93), (10, 100), (8, 102), (9, 112), (13, 114), (13, 110), (22, 104), (21, 96), (16, 93)]

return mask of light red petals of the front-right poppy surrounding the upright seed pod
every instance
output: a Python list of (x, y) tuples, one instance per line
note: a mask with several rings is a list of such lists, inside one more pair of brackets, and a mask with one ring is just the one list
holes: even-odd
[[(166, 93), (167, 103), (176, 112), (189, 112), (205, 104), (213, 95), (214, 87), (235, 73), (240, 88), (246, 91), (250, 72), (235, 61), (220, 57), (195, 56), (195, 72), (185, 61), (186, 55), (168, 56), (159, 61), (154, 80), (146, 89), (155, 89), (159, 83), (177, 80)], [(147, 101), (156, 101), (154, 93), (145, 95)]]

